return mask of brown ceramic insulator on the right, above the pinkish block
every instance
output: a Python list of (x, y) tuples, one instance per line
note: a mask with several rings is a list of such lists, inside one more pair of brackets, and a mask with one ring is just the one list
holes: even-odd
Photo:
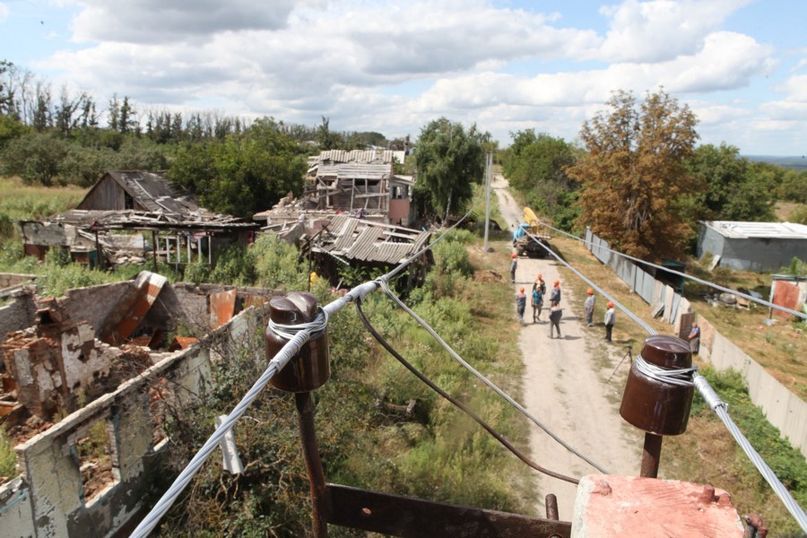
[[(681, 338), (655, 335), (647, 338), (642, 358), (663, 369), (692, 366), (690, 344)], [(678, 386), (640, 372), (634, 362), (622, 394), (620, 415), (639, 430), (655, 435), (680, 435), (690, 420), (694, 386)]]

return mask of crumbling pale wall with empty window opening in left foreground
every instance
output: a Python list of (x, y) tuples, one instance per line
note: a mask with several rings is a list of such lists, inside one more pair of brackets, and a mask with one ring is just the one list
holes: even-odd
[[(237, 342), (262, 328), (264, 316), (265, 308), (250, 309), (210, 338)], [(88, 529), (105, 536), (132, 528), (143, 516), (150, 508), (143, 506), (153, 480), (150, 475), (159, 471), (156, 462), (167, 446), (154, 442), (155, 424), (161, 417), (150, 405), (152, 388), (169, 391), (162, 392), (162, 397), (181, 407), (195, 400), (212, 372), (211, 354), (204, 345), (152, 358), (156, 363), (143, 374), (15, 447), (22, 468), (22, 499), (17, 502), (20, 506), (0, 509), (0, 528), (34, 537), (83, 537)], [(113, 473), (108, 484), (87, 499), (76, 447), (99, 421), (107, 426)]]

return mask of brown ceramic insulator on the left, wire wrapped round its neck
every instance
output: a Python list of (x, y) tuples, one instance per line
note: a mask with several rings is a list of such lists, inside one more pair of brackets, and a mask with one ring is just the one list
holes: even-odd
[[(286, 296), (273, 297), (269, 300), (269, 317), (274, 323), (281, 325), (309, 323), (317, 318), (317, 298), (304, 291), (292, 291)], [(268, 361), (281, 351), (287, 341), (274, 334), (267, 326), (265, 342)], [(289, 392), (309, 392), (325, 385), (330, 376), (328, 334), (325, 331), (305, 343), (299, 353), (272, 377), (271, 383)]]

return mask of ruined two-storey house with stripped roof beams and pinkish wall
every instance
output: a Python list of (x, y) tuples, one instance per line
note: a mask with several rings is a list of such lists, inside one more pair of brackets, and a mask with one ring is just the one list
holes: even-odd
[(412, 178), (395, 175), (404, 152), (329, 151), (310, 162), (308, 209), (379, 216), (390, 224), (410, 221)]

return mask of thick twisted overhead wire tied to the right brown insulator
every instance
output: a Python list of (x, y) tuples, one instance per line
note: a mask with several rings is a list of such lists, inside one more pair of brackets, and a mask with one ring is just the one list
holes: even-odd
[[(583, 275), (582, 273), (577, 271), (577, 269), (569, 265), (566, 260), (562, 259), (560, 256), (555, 254), (555, 252), (550, 247), (544, 245), (541, 241), (539, 241), (538, 238), (536, 238), (532, 233), (530, 233), (527, 230), (525, 230), (525, 233), (531, 239), (533, 239), (535, 242), (541, 245), (541, 247), (543, 247), (549, 254), (551, 254), (551, 256), (554, 256), (558, 261), (560, 261), (562, 265), (565, 265), (569, 270), (577, 274), (577, 276), (579, 276), (582, 280), (587, 282), (594, 289), (603, 293), (605, 297), (611, 299), (611, 301), (614, 303), (615, 306), (619, 306), (620, 310), (624, 312), (625, 315), (628, 316), (630, 319), (632, 319), (635, 323), (637, 323), (637, 325), (644, 328), (647, 334), (650, 335), (657, 334), (653, 327), (648, 325), (643, 319), (639, 318), (636, 314), (630, 311), (629, 308), (626, 308), (624, 305), (620, 304), (619, 301), (614, 300), (609, 294), (605, 293), (602, 290), (602, 288), (596, 286), (594, 282), (586, 278), (585, 275)], [(574, 239), (579, 239), (575, 236), (571, 237), (573, 237)], [(630, 257), (627, 255), (622, 256)], [(659, 267), (658, 265), (655, 266)], [(667, 270), (664, 267), (661, 268)], [(724, 423), (726, 430), (729, 431), (729, 433), (732, 435), (737, 444), (740, 445), (740, 447), (742, 447), (743, 452), (745, 452), (745, 454), (749, 457), (751, 463), (754, 464), (754, 466), (757, 468), (757, 470), (765, 479), (765, 481), (768, 482), (771, 489), (774, 490), (774, 493), (776, 493), (777, 497), (785, 505), (785, 508), (787, 509), (788, 512), (790, 512), (790, 515), (794, 516), (796, 522), (802, 527), (803, 532), (807, 533), (807, 515), (805, 515), (803, 508), (799, 506), (799, 504), (790, 494), (790, 491), (788, 491), (787, 488), (785, 488), (785, 485), (778, 479), (776, 473), (774, 473), (773, 470), (765, 462), (765, 460), (762, 459), (762, 456), (759, 456), (759, 452), (757, 452), (757, 450), (751, 445), (749, 440), (745, 438), (745, 436), (742, 434), (742, 430), (740, 430), (734, 423), (734, 421), (732, 420), (731, 416), (728, 413), (728, 404), (725, 404), (725, 402), (723, 402), (720, 399), (715, 389), (713, 389), (712, 386), (709, 385), (707, 378), (700, 375), (697, 369), (692, 369), (691, 376), (692, 376), (692, 383), (698, 388), (699, 394), (703, 396), (704, 400), (707, 401), (707, 404), (709, 404), (709, 407), (712, 409), (712, 411), (715, 412), (717, 417)]]

